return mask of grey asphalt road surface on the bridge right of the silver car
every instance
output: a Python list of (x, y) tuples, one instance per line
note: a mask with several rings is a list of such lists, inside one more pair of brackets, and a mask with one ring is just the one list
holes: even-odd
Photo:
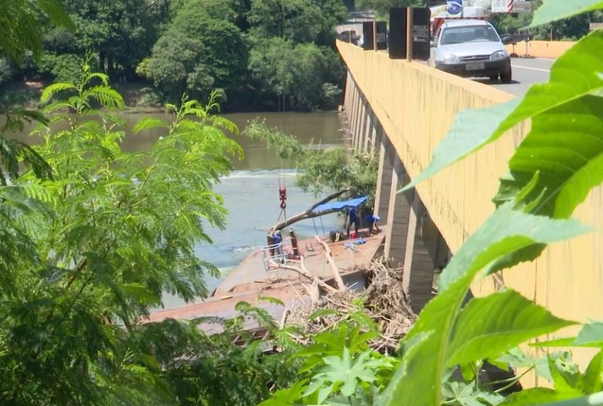
[(487, 79), (476, 79), (476, 81), (490, 84), (512, 95), (521, 96), (528, 91), (528, 88), (532, 84), (547, 82), (549, 80), (553, 62), (555, 62), (553, 59), (512, 58), (511, 70), (513, 72), (513, 80), (509, 84), (502, 84), (500, 80), (493, 82)]

